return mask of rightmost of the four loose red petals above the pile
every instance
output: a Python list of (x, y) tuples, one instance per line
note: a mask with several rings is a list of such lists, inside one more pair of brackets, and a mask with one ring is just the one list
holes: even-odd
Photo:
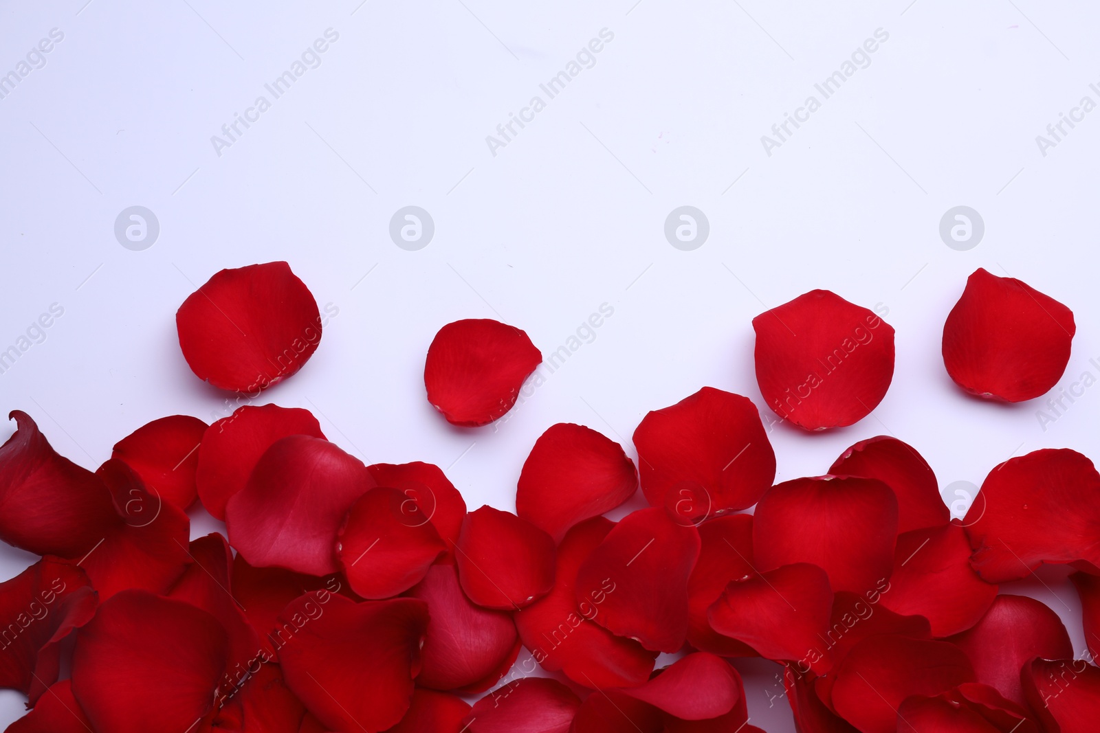
[(1076, 331), (1054, 298), (978, 268), (944, 323), (944, 366), (971, 395), (1030, 400), (1062, 378)]

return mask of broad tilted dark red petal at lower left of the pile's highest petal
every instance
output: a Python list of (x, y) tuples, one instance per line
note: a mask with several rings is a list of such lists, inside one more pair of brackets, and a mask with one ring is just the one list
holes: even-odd
[(688, 579), (700, 546), (698, 530), (663, 507), (631, 512), (581, 565), (578, 602), (603, 591), (596, 623), (647, 649), (676, 652), (688, 638)]

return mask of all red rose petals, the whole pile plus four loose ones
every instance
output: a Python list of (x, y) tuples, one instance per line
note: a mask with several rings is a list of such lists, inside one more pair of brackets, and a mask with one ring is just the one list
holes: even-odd
[[(176, 321), (195, 374), (246, 402), (323, 325), (286, 263), (218, 273)], [(829, 291), (752, 325), (766, 404), (806, 431), (890, 387), (893, 329)], [(1032, 399), (1074, 332), (1066, 307), (978, 270), (944, 364), (970, 395)], [(458, 321), (428, 349), (427, 397), (485, 425), (540, 362), (519, 329)], [(549, 426), (512, 513), (468, 511), (431, 464), (366, 466), (298, 408), (163, 418), (96, 471), (11, 417), (0, 538), (42, 556), (0, 584), (0, 685), (30, 710), (12, 733), (760, 731), (738, 657), (783, 665), (801, 733), (1100, 730), (1100, 474), (1074, 451), (992, 467), (953, 521), (895, 437), (774, 485), (757, 408), (703, 387), (645, 415), (637, 467)], [(648, 508), (604, 517), (639, 486)], [(224, 536), (190, 540), (196, 502)], [(1011, 592), (1044, 563), (1076, 570), (1088, 649)]]

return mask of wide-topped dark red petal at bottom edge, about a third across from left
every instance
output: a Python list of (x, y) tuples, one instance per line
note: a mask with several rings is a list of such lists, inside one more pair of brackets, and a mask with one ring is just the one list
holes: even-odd
[(324, 590), (279, 615), (287, 686), (332, 731), (384, 731), (409, 708), (428, 607), (413, 598), (355, 603)]

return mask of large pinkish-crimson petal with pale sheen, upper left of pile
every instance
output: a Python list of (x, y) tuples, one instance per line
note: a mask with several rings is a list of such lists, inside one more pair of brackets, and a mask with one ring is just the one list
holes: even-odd
[(279, 438), (226, 506), (229, 543), (254, 566), (334, 573), (340, 524), (372, 488), (366, 466), (332, 443), (308, 435)]

